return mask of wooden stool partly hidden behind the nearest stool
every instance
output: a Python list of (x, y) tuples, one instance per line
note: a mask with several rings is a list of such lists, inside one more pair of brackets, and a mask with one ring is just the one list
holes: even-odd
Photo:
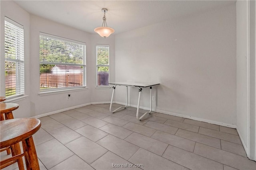
[[(5, 98), (6, 99), (6, 98)], [(4, 101), (4, 97), (2, 99)], [(13, 119), (12, 111), (19, 108), (19, 105), (16, 103), (3, 103), (0, 104), (0, 121), (3, 121), (4, 119)], [(11, 154), (11, 150), (6, 150), (7, 154)], [(23, 163), (23, 161), (22, 161)]]

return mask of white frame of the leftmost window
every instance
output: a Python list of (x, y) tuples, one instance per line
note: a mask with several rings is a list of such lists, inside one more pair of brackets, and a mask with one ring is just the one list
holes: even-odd
[[(7, 22), (7, 24), (6, 24), (6, 22)], [(16, 37), (15, 37), (17, 39), (16, 42), (18, 42), (18, 45), (16, 45), (16, 47), (15, 47), (16, 50), (18, 51), (18, 52), (16, 52), (16, 59), (6, 57), (6, 52), (8, 51), (8, 49), (6, 49), (6, 46), (10, 46), (10, 44), (6, 43), (6, 39), (9, 38), (9, 37), (6, 37), (6, 29), (7, 29), (6, 25), (8, 25), (8, 24), (11, 24), (14, 26), (14, 27), (12, 26), (12, 30), (9, 30), (9, 31), (15, 31), (16, 33), (18, 33), (18, 34), (16, 34)], [(5, 51), (4, 52), (4, 63), (6, 61), (9, 61), (9, 62), (15, 62), (16, 63), (15, 65), (18, 65), (18, 67), (16, 66), (16, 68), (15, 68), (15, 81), (16, 81), (15, 93), (16, 94), (14, 94), (14, 95), (10, 94), (9, 96), (6, 96), (6, 80), (4, 81), (5, 96), (9, 100), (25, 95), (24, 39), (25, 39), (24, 26), (5, 16), (4, 17), (4, 51)], [(6, 67), (6, 64), (4, 64), (4, 67)], [(4, 77), (6, 79), (6, 75)]]

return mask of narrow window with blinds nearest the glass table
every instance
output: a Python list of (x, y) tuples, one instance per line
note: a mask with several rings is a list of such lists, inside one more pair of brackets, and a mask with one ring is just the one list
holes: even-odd
[(109, 45), (96, 45), (96, 72), (97, 86), (108, 86)]

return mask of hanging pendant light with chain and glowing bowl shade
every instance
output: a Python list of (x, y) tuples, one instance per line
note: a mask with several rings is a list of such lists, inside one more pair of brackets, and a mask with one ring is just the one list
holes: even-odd
[[(104, 16), (103, 16), (103, 18), (102, 18), (103, 23), (102, 23), (102, 26), (101, 26), (101, 27), (95, 28), (94, 31), (95, 31), (96, 33), (98, 33), (101, 37), (106, 38), (106, 37), (108, 37), (110, 34), (114, 33), (115, 30), (112, 29), (112, 28), (110, 28), (110, 27), (108, 27), (108, 25), (107, 25), (107, 22), (106, 22), (106, 12), (108, 12), (108, 9), (102, 8), (101, 10), (102, 10), (102, 12), (104, 12)], [(104, 25), (104, 26), (103, 26), (103, 25)]]

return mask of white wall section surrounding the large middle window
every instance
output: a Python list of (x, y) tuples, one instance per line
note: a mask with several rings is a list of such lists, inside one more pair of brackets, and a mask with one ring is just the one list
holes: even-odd
[[(76, 41), (86, 43), (86, 70), (90, 70), (90, 58), (92, 57), (92, 46), (90, 44), (90, 34), (72, 27), (68, 27), (59, 23), (55, 23), (38, 16), (30, 16), (30, 82), (31, 86), (31, 113), (40, 115), (52, 111), (78, 106), (90, 103), (91, 90), (76, 92), (65, 92), (61, 94), (52, 94), (39, 96), (40, 92), (40, 73), (39, 73), (39, 34), (40, 32), (48, 33)], [(90, 82), (90, 79), (87, 79)], [(70, 100), (67, 100), (67, 95), (70, 94)], [(31, 115), (33, 116), (33, 115)]]

